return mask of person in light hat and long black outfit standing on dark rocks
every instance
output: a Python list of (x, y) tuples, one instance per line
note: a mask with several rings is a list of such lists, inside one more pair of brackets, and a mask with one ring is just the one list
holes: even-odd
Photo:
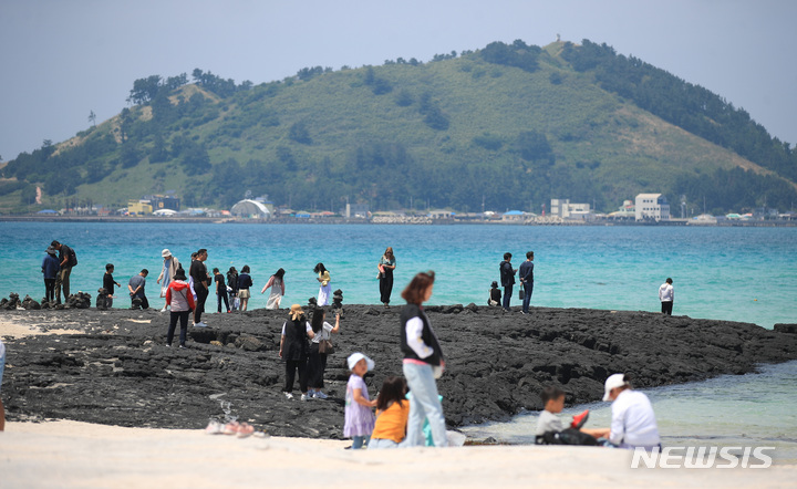
[(304, 311), (301, 305), (291, 305), (289, 321), (282, 324), (282, 336), (280, 337), (280, 358), (286, 362), (286, 385), (282, 392), (289, 399), (293, 398), (293, 382), (299, 371), (299, 388), (302, 400), (308, 400), (308, 337), (313, 337), (312, 326), (304, 319)]

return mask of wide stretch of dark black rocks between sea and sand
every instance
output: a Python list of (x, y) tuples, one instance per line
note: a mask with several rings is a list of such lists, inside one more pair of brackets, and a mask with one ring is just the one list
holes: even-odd
[[(210, 327), (189, 329), (188, 350), (166, 347), (168, 313), (156, 310), (3, 311), (7, 322), (82, 332), (6, 340), (7, 416), (166, 428), (231, 416), (272, 435), (340, 438), (345, 358), (361, 351), (376, 362), (366, 375), (372, 398), (386, 376), (401, 375), (400, 311), (346, 305), (325, 375), (331, 397), (307, 403), (281, 393), (286, 311), (207, 314)], [(446, 355), (438, 386), (454, 427), (540, 409), (540, 389), (551, 383), (568, 403), (587, 403), (600, 399), (615, 372), (653, 387), (797, 358), (789, 327), (586, 309), (521, 315), (468, 304), (427, 312)]]

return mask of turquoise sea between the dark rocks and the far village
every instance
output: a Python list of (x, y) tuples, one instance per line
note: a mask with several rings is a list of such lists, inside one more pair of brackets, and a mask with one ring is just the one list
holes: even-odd
[[(72, 289), (93, 295), (106, 262), (123, 284), (147, 268), (153, 298), (163, 248), (186, 267), (192, 251), (207, 248), (208, 269), (249, 264), (258, 292), (284, 268), (283, 304), (317, 294), (312, 269), (319, 261), (344, 302), (379, 303), (376, 262), (392, 246), (394, 302), (401, 303), (400, 291), (415, 272), (432, 269), (433, 303), (484, 304), (504, 252), (515, 254), (517, 267), (534, 250), (536, 305), (656, 311), (659, 285), (672, 277), (675, 314), (765, 327), (797, 322), (794, 228), (0, 222), (0, 295), (44, 295), (40, 263), (53, 239), (77, 252)], [(513, 303), (519, 304), (517, 295)], [(265, 305), (259, 293), (250, 302)]]

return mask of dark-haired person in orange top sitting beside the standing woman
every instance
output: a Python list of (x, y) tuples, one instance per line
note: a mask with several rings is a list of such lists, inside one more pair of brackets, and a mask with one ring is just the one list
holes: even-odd
[(376, 397), (376, 422), (369, 449), (397, 448), (406, 436), (410, 400), (406, 399), (404, 377), (390, 376), (382, 383)]

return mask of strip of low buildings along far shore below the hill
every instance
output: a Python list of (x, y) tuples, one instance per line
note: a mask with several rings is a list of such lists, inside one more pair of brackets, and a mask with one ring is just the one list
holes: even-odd
[(371, 210), (368, 204), (346, 204), (341, 209), (297, 210), (277, 206), (268, 196), (246, 198), (229, 209), (182, 208), (180, 199), (174, 195), (148, 195), (133, 199), (127, 207), (111, 209), (86, 204), (59, 210), (44, 209), (37, 217), (51, 218), (113, 218), (131, 219), (210, 219), (219, 222), (325, 222), (325, 223), (500, 223), (500, 225), (661, 225), (661, 226), (794, 226), (797, 211), (779, 211), (768, 207), (753, 209), (745, 214), (729, 212), (714, 216), (703, 210), (695, 215), (693, 206), (682, 201), (672, 208), (662, 194), (639, 194), (624, 200), (612, 212), (600, 212), (594, 204), (571, 202), (570, 199), (550, 199), (539, 212), (505, 209), (480, 212), (458, 212), (454, 209), (427, 210)]

